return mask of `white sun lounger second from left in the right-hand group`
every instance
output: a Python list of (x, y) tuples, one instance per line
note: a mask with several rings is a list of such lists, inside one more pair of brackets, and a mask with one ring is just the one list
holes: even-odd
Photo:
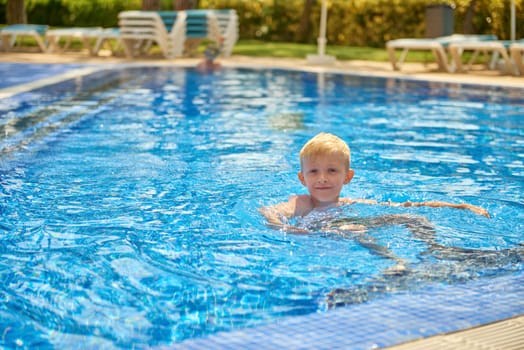
[[(456, 71), (465, 72), (471, 69), (472, 64), (478, 57), (479, 53), (484, 53), (486, 57), (489, 57), (491, 53), (491, 59), (489, 60), (487, 67), (489, 69), (497, 69), (499, 57), (504, 62), (503, 71), (506, 73), (515, 73), (515, 68), (511, 62), (508, 54), (508, 47), (511, 41), (503, 40), (466, 40), (451, 43), (448, 47), (450, 55), (453, 59), (453, 63), (456, 67)], [(466, 67), (462, 64), (462, 54), (465, 51), (473, 51), (471, 59), (467, 63)]]

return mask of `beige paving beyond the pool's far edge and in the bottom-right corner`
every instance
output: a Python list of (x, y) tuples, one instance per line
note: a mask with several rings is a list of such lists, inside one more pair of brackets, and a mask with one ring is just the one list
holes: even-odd
[[(76, 72), (79, 69), (86, 69), (85, 65), (121, 65), (121, 64), (156, 64), (156, 65), (174, 65), (174, 66), (192, 66), (196, 65), (200, 59), (184, 58), (175, 60), (165, 59), (142, 59), (129, 60), (126, 58), (115, 57), (90, 57), (84, 53), (66, 53), (66, 54), (41, 54), (41, 53), (0, 53), (0, 62), (11, 63), (31, 63), (31, 64), (67, 64), (67, 69), (63, 71), (56, 70), (56, 67), (49, 72), (53, 74), (67, 74), (68, 71)], [(307, 65), (305, 59), (273, 59), (273, 58), (253, 58), (234, 56), (227, 59), (219, 60), (223, 66), (245, 66), (245, 67), (278, 67), (290, 69), (306, 69), (311, 71), (337, 71), (345, 73), (354, 73), (369, 76), (386, 76), (386, 77), (404, 77), (416, 80), (430, 80), (450, 83), (471, 83), (479, 85), (497, 85), (524, 88), (524, 77), (515, 77), (502, 75), (497, 71), (474, 71), (467, 74), (449, 74), (435, 71), (436, 65), (433, 63), (425, 64), (405, 64), (401, 72), (392, 70), (388, 62), (368, 62), (368, 61), (338, 61), (335, 65), (329, 67)], [(82, 68), (83, 67), (83, 68)], [(65, 67), (63, 67), (65, 68)], [(36, 80), (44, 77), (31, 75), (26, 87), (36, 83)], [(50, 77), (51, 79), (52, 77)], [(4, 91), (10, 87), (2, 87)], [(16, 89), (12, 88), (16, 93)], [(1, 97), (1, 96), (0, 96)], [(517, 280), (517, 283), (519, 280)], [(515, 280), (512, 281), (513, 283)], [(520, 280), (520, 283), (522, 280)], [(488, 287), (487, 287), (488, 288)], [(515, 296), (518, 300), (518, 295)], [(445, 323), (445, 321), (444, 321)], [(281, 325), (277, 325), (281, 327)], [(491, 328), (490, 328), (491, 327)], [(496, 335), (493, 332), (496, 329)], [(489, 335), (489, 337), (488, 337)], [(516, 335), (516, 336), (513, 336)], [(511, 339), (510, 343), (506, 343)], [(485, 325), (480, 328), (455, 332), (448, 335), (438, 335), (402, 345), (393, 347), (398, 350), (407, 349), (510, 349), (524, 348), (524, 316), (521, 315), (510, 320), (497, 322), (495, 324)]]

